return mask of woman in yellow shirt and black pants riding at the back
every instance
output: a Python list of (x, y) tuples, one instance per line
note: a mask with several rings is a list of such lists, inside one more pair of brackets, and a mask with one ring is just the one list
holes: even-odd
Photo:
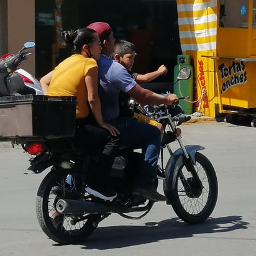
[[(63, 31), (62, 38), (73, 55), (40, 79), (43, 94), (76, 96), (76, 145), (89, 146), (90, 168), (86, 191), (112, 201), (117, 194), (107, 187), (107, 177), (119, 150), (118, 130), (103, 121), (98, 96), (99, 35), (93, 29)], [(91, 115), (90, 115), (91, 113)]]

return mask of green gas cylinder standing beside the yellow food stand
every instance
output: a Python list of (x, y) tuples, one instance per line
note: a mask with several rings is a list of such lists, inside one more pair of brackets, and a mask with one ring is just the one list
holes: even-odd
[(185, 99), (180, 100), (180, 105), (183, 107), (185, 114), (193, 113), (193, 103), (189, 101), (193, 101), (193, 85), (194, 85), (194, 70), (193, 66), (190, 65), (190, 55), (177, 55), (177, 65), (174, 67), (173, 71), (173, 81), (177, 80), (178, 71), (180, 68), (190, 68), (191, 76), (188, 80), (180, 80), (173, 88), (173, 93), (175, 93), (178, 97), (190, 96), (188, 101)]

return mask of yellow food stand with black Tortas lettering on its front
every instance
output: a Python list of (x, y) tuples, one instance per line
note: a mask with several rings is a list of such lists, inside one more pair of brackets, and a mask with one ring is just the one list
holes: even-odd
[(246, 15), (234, 16), (225, 27), (217, 27), (219, 58), (214, 63), (220, 112), (256, 108), (255, 1), (229, 1), (229, 11), (239, 12), (241, 4), (247, 6)]

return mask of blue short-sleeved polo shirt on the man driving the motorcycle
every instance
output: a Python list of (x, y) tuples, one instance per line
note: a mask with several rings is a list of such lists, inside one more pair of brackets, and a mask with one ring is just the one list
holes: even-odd
[(104, 54), (98, 60), (99, 99), (103, 120), (109, 122), (119, 117), (119, 93), (134, 88), (136, 82), (126, 68)]

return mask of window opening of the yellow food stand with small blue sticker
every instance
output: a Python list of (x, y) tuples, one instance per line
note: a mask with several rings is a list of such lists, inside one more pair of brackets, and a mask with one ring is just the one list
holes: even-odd
[(247, 28), (249, 0), (220, 0), (219, 27)]

